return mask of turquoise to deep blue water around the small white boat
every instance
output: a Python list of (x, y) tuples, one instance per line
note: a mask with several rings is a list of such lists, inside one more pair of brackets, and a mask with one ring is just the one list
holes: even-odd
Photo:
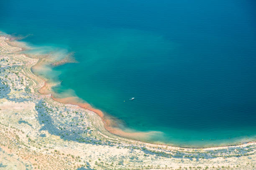
[(74, 52), (78, 63), (54, 67), (52, 78), (62, 80), (55, 92), (74, 90), (123, 129), (161, 132), (146, 141), (204, 147), (255, 139), (255, 7), (2, 0), (0, 30)]

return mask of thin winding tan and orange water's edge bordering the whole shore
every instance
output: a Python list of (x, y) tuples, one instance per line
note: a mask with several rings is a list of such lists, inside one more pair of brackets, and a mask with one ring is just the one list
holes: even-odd
[[(3, 36), (5, 37), (5, 36)], [(10, 37), (6, 36), (6, 38), (10, 39)], [(15, 40), (15, 38), (13, 38), (13, 40), (8, 40), (10, 42), (13, 42), (11, 45), (15, 45), (15, 43), (17, 42)], [(7, 42), (8, 43), (8, 42)], [(19, 43), (19, 42), (18, 42)], [(21, 52), (21, 51), (24, 51), (26, 50), (26, 47), (19, 47), (18, 45), (15, 45), (14, 47), (18, 47), (20, 48), (19, 51), (17, 52)], [(26, 54), (24, 54), (26, 55)], [(28, 56), (29, 58), (33, 58), (33, 57), (30, 57), (29, 55), (26, 55)], [(67, 57), (64, 57), (64, 60), (59, 60), (59, 61), (56, 61), (56, 60), (53, 60), (54, 62), (52, 61), (47, 61), (45, 60), (44, 58), (45, 56), (43, 57), (35, 57), (38, 59), (38, 62), (36, 62), (35, 65), (33, 65), (31, 67), (31, 72), (33, 72), (33, 67), (43, 67), (43, 65), (45, 65), (46, 63), (47, 64), (50, 64), (52, 65), (53, 67), (57, 66), (57, 65), (63, 65), (65, 63), (69, 63), (69, 62), (76, 62), (75, 60), (69, 60)], [(43, 60), (41, 60), (43, 59)], [(53, 64), (54, 63), (54, 64)], [(117, 135), (118, 137), (121, 137), (121, 138), (124, 138), (124, 139), (127, 139), (127, 140), (135, 140), (135, 141), (138, 141), (138, 142), (141, 142), (141, 143), (146, 143), (146, 144), (152, 144), (152, 145), (161, 145), (161, 146), (170, 146), (170, 147), (174, 147), (174, 148), (184, 148), (184, 149), (214, 149), (214, 148), (222, 148), (222, 147), (230, 147), (230, 146), (241, 146), (241, 145), (246, 145), (246, 144), (250, 144), (250, 143), (256, 143), (255, 141), (252, 141), (252, 140), (249, 140), (248, 142), (244, 142), (244, 143), (241, 143), (241, 142), (238, 142), (238, 143), (234, 143), (234, 144), (230, 144), (230, 145), (217, 145), (217, 146), (206, 146), (206, 147), (181, 147), (179, 145), (174, 145), (174, 144), (168, 144), (168, 143), (150, 143), (150, 142), (145, 142), (143, 140), (138, 140), (135, 137), (142, 137), (142, 138), (146, 138), (147, 135), (150, 135), (150, 133), (155, 133), (155, 131), (151, 131), (151, 132), (134, 132), (134, 133), (129, 133), (129, 132), (125, 132), (121, 129), (119, 129), (117, 127), (117, 123), (115, 123), (111, 117), (108, 117), (108, 115), (105, 115), (101, 110), (99, 109), (95, 109), (93, 108), (90, 104), (88, 104), (87, 102), (85, 101), (82, 101), (82, 102), (79, 102), (79, 97), (76, 97), (76, 96), (70, 96), (70, 97), (64, 97), (64, 98), (58, 98), (58, 97), (54, 97), (54, 92), (51, 90), (51, 87), (53, 87), (54, 85), (56, 85), (56, 83), (48, 83), (48, 80), (44, 79), (43, 77), (39, 76), (39, 75), (36, 75), (35, 72), (33, 72), (33, 74), (38, 77), (39, 79), (41, 79), (43, 82), (44, 82), (44, 85), (42, 87), (40, 87), (37, 91), (41, 94), (41, 95), (50, 95), (51, 99), (56, 101), (56, 102), (60, 102), (60, 103), (63, 103), (63, 104), (70, 104), (70, 105), (76, 105), (76, 106), (79, 106), (80, 108), (84, 109), (84, 110), (90, 110), (94, 113), (96, 113), (100, 119), (102, 120), (103, 122), (103, 125), (104, 125), (104, 128), (105, 130), (107, 130), (109, 133), (113, 134), (113, 135)], [(116, 128), (115, 128), (116, 127)], [(241, 140), (240, 140), (241, 141)]]

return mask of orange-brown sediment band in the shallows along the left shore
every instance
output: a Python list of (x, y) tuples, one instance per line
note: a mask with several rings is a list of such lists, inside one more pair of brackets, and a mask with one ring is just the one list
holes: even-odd
[(51, 57), (51, 54), (30, 55), (30, 57), (36, 57), (39, 59), (38, 62), (35, 65), (33, 65), (33, 67), (31, 67), (31, 70), (44, 81), (44, 86), (42, 86), (38, 90), (39, 93), (43, 95), (51, 95), (51, 98), (57, 102), (61, 102), (64, 104), (78, 105), (81, 108), (95, 112), (97, 115), (101, 117), (105, 130), (107, 130), (108, 132), (114, 135), (118, 135), (124, 138), (135, 139), (135, 140), (138, 140), (138, 139), (145, 140), (150, 134), (154, 133), (153, 131), (152, 132), (136, 132), (132, 130), (130, 130), (130, 132), (125, 132), (124, 130), (118, 127), (118, 123), (112, 117), (110, 117), (109, 115), (105, 115), (101, 110), (92, 107), (89, 103), (85, 102), (79, 97), (75, 95), (71, 95), (69, 93), (56, 94), (52, 90), (52, 87), (58, 85), (59, 82), (47, 80), (46, 77), (42, 77), (41, 75), (38, 75), (38, 72), (40, 72), (41, 70), (45, 70), (46, 65), (53, 67), (53, 66), (65, 64), (67, 62), (76, 62), (75, 60), (72, 59), (71, 53), (66, 57), (57, 61), (55, 58)]

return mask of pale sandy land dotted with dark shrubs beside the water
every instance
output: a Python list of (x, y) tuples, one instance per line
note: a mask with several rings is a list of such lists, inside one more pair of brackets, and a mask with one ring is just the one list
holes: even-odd
[(74, 59), (31, 57), (25, 48), (0, 34), (0, 169), (255, 169), (254, 142), (197, 149), (133, 140), (148, 134), (115, 128), (77, 97), (56, 97), (51, 87), (58, 82), (31, 71)]

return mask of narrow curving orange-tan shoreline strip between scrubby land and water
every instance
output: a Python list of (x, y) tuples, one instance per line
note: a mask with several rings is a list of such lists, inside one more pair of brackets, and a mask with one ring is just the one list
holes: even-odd
[[(8, 36), (6, 36), (8, 37)], [(9, 37), (8, 37), (9, 38)], [(13, 40), (15, 40), (15, 38), (13, 37)], [(16, 42), (14, 42), (12, 45), (15, 45), (15, 47), (19, 47), (17, 44), (15, 44)], [(21, 51), (25, 51), (26, 47), (25, 46), (21, 46), (20, 47), (20, 52)], [(26, 54), (25, 54), (26, 55)], [(28, 55), (29, 57), (31, 57), (31, 55)], [(43, 56), (43, 59), (45, 55)], [(33, 57), (32, 57), (33, 58)], [(35, 57), (38, 58), (38, 57)], [(41, 57), (42, 58), (42, 57)], [(69, 63), (69, 62), (75, 62), (75, 60), (69, 60), (67, 59), (67, 57), (64, 57), (64, 60), (40, 60), (41, 59), (39, 57), (38, 62), (33, 66), (33, 67), (38, 67), (37, 69), (41, 69), (42, 67), (44, 67), (45, 64), (50, 64), (53, 67), (57, 66), (57, 65), (62, 65), (65, 63)], [(92, 112), (95, 112), (99, 117), (101, 117), (101, 120), (104, 124), (104, 128), (105, 130), (107, 130), (108, 132), (117, 135), (119, 137), (123, 137), (123, 138), (128, 138), (128, 139), (132, 139), (132, 140), (138, 140), (141, 142), (145, 142), (143, 140), (143, 138), (147, 138), (148, 135), (150, 135), (151, 133), (157, 133), (155, 131), (151, 131), (151, 132), (125, 132), (124, 130), (121, 130), (120, 128), (118, 128), (118, 124), (108, 115), (105, 115), (101, 110), (99, 109), (95, 109), (93, 108), (89, 103), (85, 102), (85, 101), (81, 101), (81, 99), (79, 99), (79, 97), (76, 96), (68, 96), (68, 97), (56, 97), (58, 96), (58, 94), (54, 94), (54, 92), (51, 90), (52, 87), (54, 87), (55, 85), (58, 84), (58, 82), (51, 82), (49, 80), (47, 80), (46, 78), (37, 75), (37, 73), (35, 71), (33, 71), (33, 67), (31, 67), (31, 71), (41, 80), (44, 81), (44, 85), (38, 89), (38, 92), (42, 95), (50, 95), (51, 99), (57, 101), (57, 102), (61, 102), (64, 104), (71, 104), (71, 105), (77, 105), (85, 110), (90, 110)], [(55, 96), (56, 95), (56, 96)], [(141, 139), (140, 139), (141, 138)], [(255, 143), (254, 141), (247, 139), (245, 140), (246, 142), (243, 143)], [(150, 143), (150, 142), (146, 142), (146, 143)], [(234, 146), (234, 145), (241, 145), (243, 144), (241, 142), (238, 143), (234, 143), (231, 145), (217, 145), (217, 146), (206, 146), (206, 147), (198, 147), (198, 148), (220, 148), (220, 147), (226, 147), (226, 146)], [(168, 145), (168, 146), (175, 146), (174, 144), (169, 144), (169, 143), (151, 143), (151, 144), (157, 144), (157, 145)], [(176, 147), (176, 146), (175, 146)], [(177, 146), (179, 148), (197, 148), (197, 147), (180, 147)]]

